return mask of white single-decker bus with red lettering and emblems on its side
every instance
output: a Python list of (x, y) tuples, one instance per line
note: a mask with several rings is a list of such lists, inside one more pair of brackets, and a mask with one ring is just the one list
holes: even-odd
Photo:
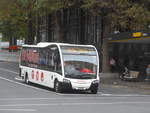
[(97, 93), (99, 56), (92, 45), (46, 42), (23, 45), (19, 65), (19, 75), (27, 84), (40, 84), (59, 93), (64, 90)]

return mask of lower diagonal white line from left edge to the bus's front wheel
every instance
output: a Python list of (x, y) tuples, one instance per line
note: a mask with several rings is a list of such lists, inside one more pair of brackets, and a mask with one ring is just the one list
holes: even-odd
[(40, 91), (44, 91), (44, 92), (48, 92), (48, 93), (49, 93), (49, 91), (46, 91), (46, 90), (44, 90), (44, 89), (37, 88), (37, 87), (33, 87), (33, 86), (26, 85), (26, 84), (23, 84), (23, 83), (19, 83), (19, 82), (10, 80), (10, 79), (6, 79), (6, 78), (4, 78), (4, 77), (0, 77), (0, 79), (5, 80), (5, 81), (8, 81), (8, 82), (11, 82), (11, 83), (14, 83), (14, 84), (22, 85), (22, 86), (25, 86), (25, 87), (28, 87), (28, 88), (32, 88), (32, 89), (36, 89), (36, 90), (40, 90)]

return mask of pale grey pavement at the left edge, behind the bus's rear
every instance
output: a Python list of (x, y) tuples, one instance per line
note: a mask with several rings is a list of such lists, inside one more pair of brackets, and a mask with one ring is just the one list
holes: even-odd
[(0, 50), (0, 61), (19, 62), (19, 52), (9, 52), (8, 50)]

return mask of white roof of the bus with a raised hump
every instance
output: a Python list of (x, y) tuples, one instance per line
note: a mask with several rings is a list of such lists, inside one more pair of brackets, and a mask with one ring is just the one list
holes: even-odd
[(69, 43), (52, 43), (52, 42), (40, 42), (38, 43), (37, 45), (22, 45), (22, 47), (40, 47), (40, 48), (43, 48), (43, 47), (47, 47), (49, 45), (58, 45), (58, 46), (86, 46), (86, 47), (94, 47), (93, 45), (80, 45), (80, 44), (69, 44)]

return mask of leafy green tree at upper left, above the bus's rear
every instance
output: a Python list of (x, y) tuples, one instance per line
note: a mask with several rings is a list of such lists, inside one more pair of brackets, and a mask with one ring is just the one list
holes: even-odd
[(11, 37), (25, 37), (27, 44), (33, 44), (37, 16), (56, 11), (60, 7), (59, 0), (1, 0), (0, 21), (3, 23), (1, 29), (8, 33), (8, 29), (4, 30), (7, 27), (4, 26), (9, 26), (13, 33)]

